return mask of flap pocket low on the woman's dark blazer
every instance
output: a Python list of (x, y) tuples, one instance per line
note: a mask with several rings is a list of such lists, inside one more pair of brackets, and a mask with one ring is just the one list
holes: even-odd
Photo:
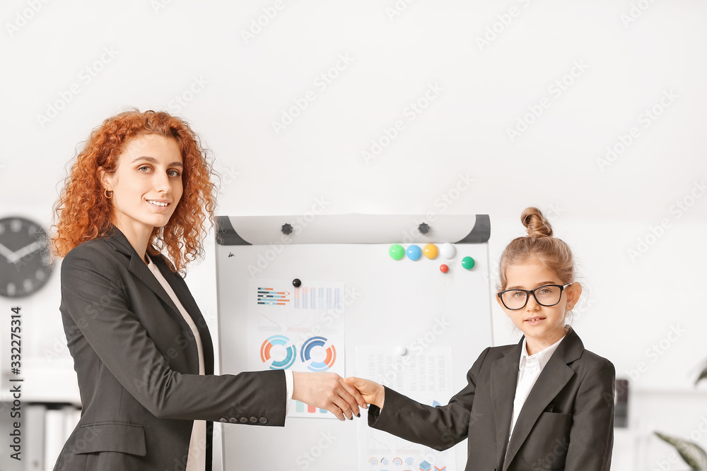
[(101, 451), (144, 456), (145, 429), (140, 424), (129, 422), (96, 422), (79, 427), (74, 453), (81, 455)]

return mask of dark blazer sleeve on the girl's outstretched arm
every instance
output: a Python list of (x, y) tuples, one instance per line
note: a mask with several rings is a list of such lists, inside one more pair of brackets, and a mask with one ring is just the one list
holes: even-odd
[(424, 405), (386, 387), (383, 408), (368, 409), (368, 425), (438, 451), (451, 448), (467, 438), (477, 378), (488, 353), (489, 348), (481, 352), (467, 373), (467, 386), (448, 405)]

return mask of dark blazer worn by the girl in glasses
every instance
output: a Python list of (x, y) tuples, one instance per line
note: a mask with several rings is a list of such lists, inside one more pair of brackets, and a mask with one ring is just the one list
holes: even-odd
[(368, 424), (445, 450), (466, 439), (467, 471), (607, 471), (614, 442), (614, 365), (570, 329), (544, 366), (508, 442), (522, 339), (489, 347), (448, 405), (430, 407), (385, 389)]

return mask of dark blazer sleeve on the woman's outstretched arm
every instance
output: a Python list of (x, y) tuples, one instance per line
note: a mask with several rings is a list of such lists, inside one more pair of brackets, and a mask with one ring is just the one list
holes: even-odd
[(284, 425), (283, 371), (238, 375), (173, 371), (132, 311), (133, 302), (139, 300), (128, 299), (117, 268), (95, 246), (78, 246), (66, 255), (62, 308), (100, 362), (153, 415), (217, 422), (257, 416), (267, 417), (267, 425)]

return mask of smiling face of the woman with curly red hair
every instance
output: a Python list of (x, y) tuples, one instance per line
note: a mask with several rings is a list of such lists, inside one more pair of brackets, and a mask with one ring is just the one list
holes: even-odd
[(129, 141), (115, 174), (100, 167), (103, 187), (113, 192), (113, 222), (118, 229), (145, 237), (166, 225), (182, 198), (182, 170), (177, 141), (156, 134)]

